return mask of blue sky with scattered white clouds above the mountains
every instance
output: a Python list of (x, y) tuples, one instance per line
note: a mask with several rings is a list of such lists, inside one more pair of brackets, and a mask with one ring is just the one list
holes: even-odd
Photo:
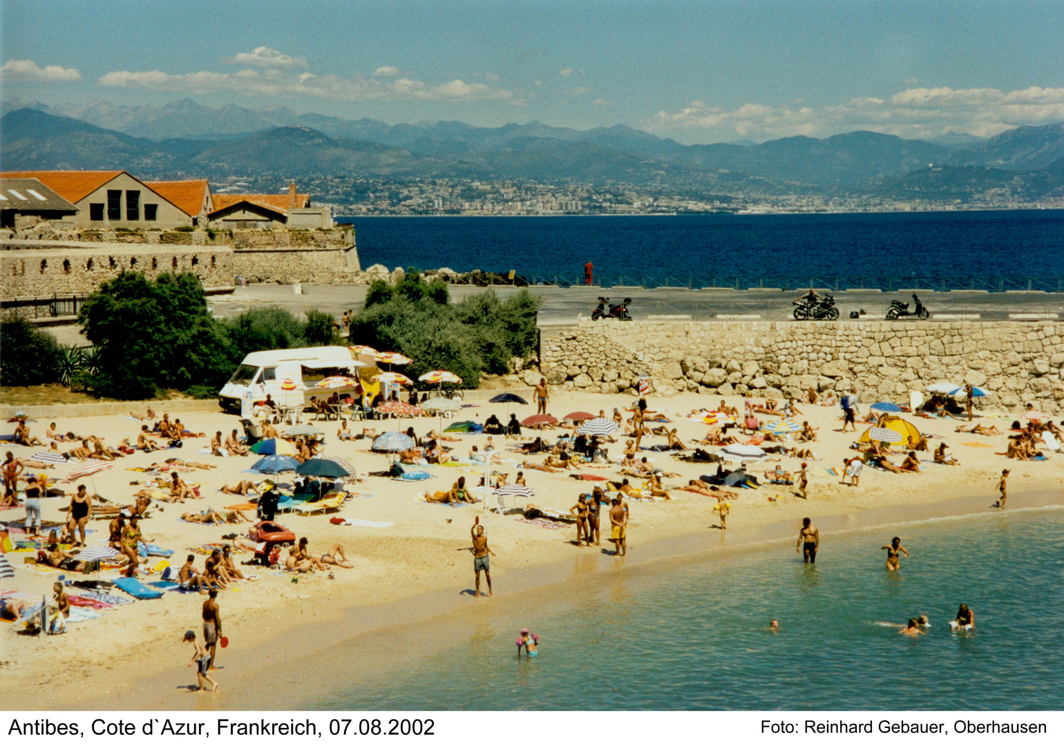
[(1064, 121), (1064, 0), (4, 0), (4, 100), (192, 98), (681, 143)]

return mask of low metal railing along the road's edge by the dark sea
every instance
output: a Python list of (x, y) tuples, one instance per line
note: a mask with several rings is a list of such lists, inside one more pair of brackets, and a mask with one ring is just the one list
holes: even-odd
[[(508, 273), (462, 276), (453, 281), (459, 285), (516, 285), (579, 287), (584, 285), (583, 275), (532, 275)], [(902, 289), (945, 293), (947, 291), (985, 291), (1004, 293), (1007, 291), (1042, 291), (1064, 293), (1064, 278), (1016, 278), (1016, 277), (934, 277), (934, 276), (826, 276), (826, 275), (595, 275), (595, 286), (606, 288), (624, 287), (686, 287), (688, 289), (780, 289), (796, 292), (813, 287), (817, 291), (841, 293), (843, 291), (885, 291), (894, 293)]]

